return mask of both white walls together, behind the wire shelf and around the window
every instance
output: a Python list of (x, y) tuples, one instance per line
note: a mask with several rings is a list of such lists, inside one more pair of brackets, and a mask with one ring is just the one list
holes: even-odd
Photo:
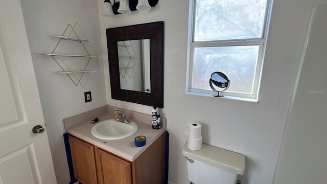
[[(165, 108), (159, 112), (168, 119), (170, 132), (169, 180), (176, 184), (187, 182), (181, 148), (187, 139), (184, 134), (187, 124), (197, 121), (203, 125), (204, 143), (247, 157), (246, 174), (240, 177), (242, 183), (271, 183), (309, 11), (311, 6), (321, 2), (326, 0), (274, 1), (260, 102), (251, 103), (185, 95), (187, 0), (161, 0), (150, 12), (135, 11), (129, 15), (103, 17), (100, 12), (100, 25), (98, 11), (102, 11), (102, 0), (21, 1), (58, 183), (69, 181), (62, 119), (106, 103), (151, 112), (150, 106), (111, 99), (105, 29), (161, 20), (165, 21)], [(94, 47), (103, 56), (94, 65), (98, 72), (87, 76), (84, 88), (55, 73), (59, 71), (56, 63), (39, 55), (52, 52), (57, 39), (51, 35), (61, 34), (67, 24), (76, 21), (88, 38), (95, 41)], [(89, 90), (92, 102), (84, 103), (83, 93)]]

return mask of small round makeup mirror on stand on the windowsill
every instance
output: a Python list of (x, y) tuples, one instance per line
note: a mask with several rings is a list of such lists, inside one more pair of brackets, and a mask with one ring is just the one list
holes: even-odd
[[(211, 74), (209, 84), (210, 87), (216, 91), (216, 94), (213, 95), (214, 97), (223, 97), (223, 95), (220, 95), (220, 92), (226, 90), (229, 87), (230, 80), (225, 74), (221, 72), (214, 72)], [(217, 86), (218, 89), (216, 89), (213, 84)]]

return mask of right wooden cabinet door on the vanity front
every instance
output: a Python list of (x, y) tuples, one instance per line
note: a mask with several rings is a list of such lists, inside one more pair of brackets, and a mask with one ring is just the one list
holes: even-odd
[(96, 149), (99, 184), (131, 184), (131, 163), (101, 149)]

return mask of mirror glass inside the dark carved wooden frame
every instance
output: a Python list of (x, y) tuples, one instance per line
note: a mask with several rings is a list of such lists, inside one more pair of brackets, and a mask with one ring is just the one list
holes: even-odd
[(117, 42), (121, 88), (151, 93), (150, 39)]

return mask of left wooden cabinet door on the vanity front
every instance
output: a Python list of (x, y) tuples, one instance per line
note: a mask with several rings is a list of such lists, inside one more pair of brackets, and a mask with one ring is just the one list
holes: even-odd
[(94, 146), (69, 135), (74, 174), (83, 184), (97, 183)]

